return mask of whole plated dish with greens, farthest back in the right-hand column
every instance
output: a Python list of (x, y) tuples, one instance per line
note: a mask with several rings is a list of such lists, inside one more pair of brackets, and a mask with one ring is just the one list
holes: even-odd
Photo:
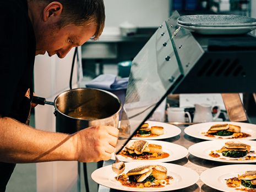
[(256, 125), (241, 122), (206, 122), (188, 126), (184, 132), (205, 140), (256, 139)]

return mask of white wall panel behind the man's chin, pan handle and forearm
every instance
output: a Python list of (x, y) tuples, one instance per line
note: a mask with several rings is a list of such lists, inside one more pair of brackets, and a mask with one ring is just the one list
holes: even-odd
[[(80, 48), (79, 48), (80, 52)], [(64, 59), (57, 55), (48, 57), (39, 55), (35, 59), (34, 83), (35, 93), (53, 101), (57, 94), (69, 89), (69, 77), (74, 49)], [(80, 57), (81, 58), (81, 57)], [(78, 67), (75, 65), (73, 88), (78, 83)], [(35, 108), (35, 125), (37, 129), (55, 132), (54, 107), (39, 105)], [(36, 163), (37, 192), (78, 191), (78, 162), (56, 161)]]

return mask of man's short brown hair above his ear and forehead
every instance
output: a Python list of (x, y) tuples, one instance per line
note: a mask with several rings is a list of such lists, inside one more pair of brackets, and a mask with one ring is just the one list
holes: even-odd
[(41, 0), (46, 3), (59, 2), (63, 5), (60, 27), (68, 24), (77, 26), (96, 24), (96, 32), (92, 39), (98, 39), (105, 25), (105, 6), (103, 0)]

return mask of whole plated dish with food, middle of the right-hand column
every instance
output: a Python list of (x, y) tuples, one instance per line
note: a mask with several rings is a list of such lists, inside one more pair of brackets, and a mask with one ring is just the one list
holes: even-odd
[(211, 161), (256, 162), (256, 141), (254, 140), (211, 140), (194, 144), (188, 148), (188, 151), (196, 157)]

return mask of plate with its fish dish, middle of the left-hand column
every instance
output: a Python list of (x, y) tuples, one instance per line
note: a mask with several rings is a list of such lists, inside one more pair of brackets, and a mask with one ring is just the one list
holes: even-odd
[[(169, 162), (182, 159), (188, 150), (181, 145), (157, 140), (130, 140), (117, 155), (120, 161)], [(115, 159), (112, 156), (111, 159)]]

